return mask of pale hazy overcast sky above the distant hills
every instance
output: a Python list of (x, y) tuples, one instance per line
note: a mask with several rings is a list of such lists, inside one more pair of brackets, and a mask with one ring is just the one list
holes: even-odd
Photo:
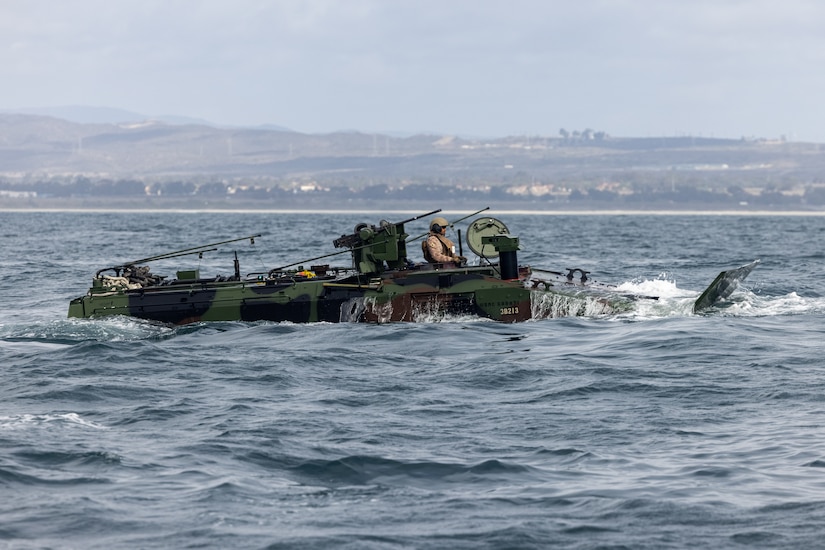
[(0, 109), (825, 142), (821, 0), (0, 0)]

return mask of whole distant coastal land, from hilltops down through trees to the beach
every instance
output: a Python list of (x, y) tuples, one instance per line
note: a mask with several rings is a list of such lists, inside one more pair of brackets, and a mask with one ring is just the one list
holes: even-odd
[(417, 200), (426, 189), (432, 194), (444, 188), (542, 204), (740, 205), (761, 197), (769, 204), (804, 205), (819, 204), (815, 197), (825, 193), (823, 153), (824, 145), (778, 141), (592, 132), (483, 140), (303, 134), (145, 120), (80, 124), (6, 113), (0, 114), (0, 199), (39, 188), (41, 196), (54, 197), (123, 198), (128, 189), (126, 194), (138, 196), (168, 196), (171, 190), (250, 200), (264, 193), (284, 202), (284, 193), (295, 198), (307, 190), (342, 189), (325, 195), (335, 204), (353, 196), (347, 190), (371, 189), (370, 199), (378, 193), (387, 200)]

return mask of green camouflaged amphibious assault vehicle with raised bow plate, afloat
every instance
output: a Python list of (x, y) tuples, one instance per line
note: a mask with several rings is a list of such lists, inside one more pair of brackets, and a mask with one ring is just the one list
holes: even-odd
[[(455, 225), (472, 216), (451, 223)], [(466, 244), (477, 257), (466, 261), (416, 263), (408, 256), (411, 239), (401, 222), (358, 224), (335, 239), (339, 252), (267, 272), (242, 275), (235, 252), (234, 272), (204, 278), (181, 270), (175, 278), (153, 274), (146, 265), (253, 235), (125, 262), (99, 270), (85, 296), (71, 301), (69, 317), (125, 315), (171, 324), (199, 321), (374, 322), (423, 321), (444, 315), (471, 315), (503, 322), (564, 316), (598, 316), (628, 311), (639, 296), (594, 281), (583, 269), (546, 271), (518, 263), (519, 238), (500, 220), (481, 216), (469, 223)], [(459, 246), (461, 233), (459, 230)], [(351, 265), (314, 264), (350, 253)], [(694, 304), (701, 312), (724, 300), (759, 260), (721, 272)], [(297, 266), (297, 267), (296, 267)]]

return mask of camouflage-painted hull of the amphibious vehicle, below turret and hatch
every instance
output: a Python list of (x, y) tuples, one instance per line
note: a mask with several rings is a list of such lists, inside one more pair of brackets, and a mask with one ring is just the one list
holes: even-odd
[(397, 322), (478, 316), (503, 322), (627, 310), (620, 298), (548, 292), (503, 281), (488, 268), (388, 272), (371, 281), (197, 281), (139, 289), (101, 287), (69, 305), (69, 317), (124, 315), (199, 321)]

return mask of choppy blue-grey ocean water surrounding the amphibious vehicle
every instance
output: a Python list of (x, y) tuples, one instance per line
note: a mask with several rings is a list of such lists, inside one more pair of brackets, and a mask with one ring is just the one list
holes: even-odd
[(514, 325), (70, 320), (125, 260), (261, 233), (153, 271), (262, 271), (414, 214), (0, 212), (0, 548), (820, 546), (825, 217), (490, 214), (522, 263), (661, 298)]

